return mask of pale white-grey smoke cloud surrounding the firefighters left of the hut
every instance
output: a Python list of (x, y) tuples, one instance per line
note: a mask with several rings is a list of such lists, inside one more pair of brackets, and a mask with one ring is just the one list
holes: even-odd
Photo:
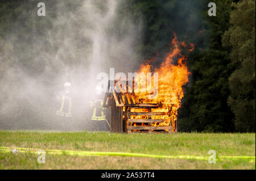
[(46, 16), (36, 15), (36, 1), (11, 3), (13, 26), (0, 37), (0, 129), (63, 129), (56, 96), (71, 82), (69, 128), (94, 130), (96, 76), (138, 67), (141, 23), (122, 9), (126, 1), (45, 1)]

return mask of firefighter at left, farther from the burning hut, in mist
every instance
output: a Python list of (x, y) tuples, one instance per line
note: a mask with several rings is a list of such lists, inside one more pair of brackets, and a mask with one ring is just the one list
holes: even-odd
[(71, 96), (71, 83), (64, 83), (64, 92), (57, 96), (57, 99), (60, 100), (60, 108), (56, 111), (56, 114), (60, 116), (61, 124), (64, 125), (65, 129), (69, 129), (72, 119), (72, 96)]

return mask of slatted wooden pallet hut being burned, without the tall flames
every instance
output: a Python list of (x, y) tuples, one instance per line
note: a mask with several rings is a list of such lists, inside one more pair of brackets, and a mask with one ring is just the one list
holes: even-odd
[(106, 93), (103, 106), (111, 108), (110, 132), (172, 133), (172, 124), (161, 126), (168, 122), (170, 112), (154, 111), (162, 104), (140, 103), (134, 91), (116, 92), (110, 82), (108, 90), (112, 92)]

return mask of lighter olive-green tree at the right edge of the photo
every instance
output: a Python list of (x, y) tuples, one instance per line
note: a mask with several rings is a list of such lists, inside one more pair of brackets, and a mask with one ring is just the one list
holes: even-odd
[(236, 70), (229, 77), (228, 104), (236, 116), (236, 131), (255, 132), (255, 1), (232, 4), (232, 27), (222, 42), (231, 47), (231, 66)]

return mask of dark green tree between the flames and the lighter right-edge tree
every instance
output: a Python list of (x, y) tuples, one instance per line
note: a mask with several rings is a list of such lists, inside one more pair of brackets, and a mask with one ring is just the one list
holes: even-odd
[[(229, 66), (228, 48), (222, 47), (221, 42), (222, 35), (229, 28), (232, 1), (214, 2), (217, 5), (217, 16), (208, 16), (206, 1), (205, 8), (201, 10), (204, 35), (199, 37), (195, 50), (189, 56), (192, 77), (185, 86), (178, 114), (178, 131), (234, 131), (233, 113), (226, 103), (230, 94), (228, 77), (233, 69)], [(208, 40), (208, 47), (201, 47), (200, 39), (203, 42)]]

